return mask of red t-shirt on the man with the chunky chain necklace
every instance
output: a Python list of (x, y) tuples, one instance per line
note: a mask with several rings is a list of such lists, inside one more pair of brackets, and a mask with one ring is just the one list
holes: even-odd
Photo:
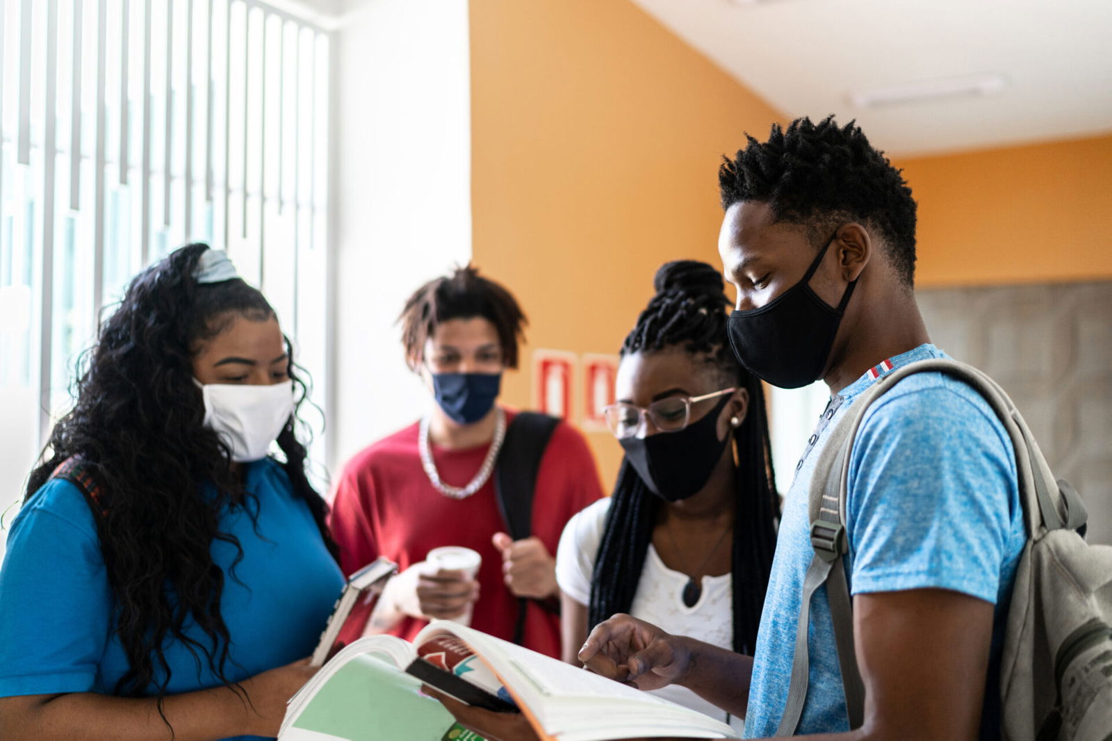
[[(506, 413), (507, 425), (513, 419)], [(417, 448), (418, 426), (365, 448), (344, 467), (331, 512), (332, 536), (340, 546), (340, 565), (351, 574), (379, 556), (404, 571), (443, 545), (461, 545), (483, 555), (479, 599), (471, 626), (507, 641), (514, 638), (517, 597), (503, 581), (502, 554), (490, 542), (506, 532), (495, 497), (495, 475), (465, 500), (445, 496), (429, 482)], [(440, 480), (465, 486), (478, 473), (490, 446), (449, 451), (433, 445)], [(560, 533), (572, 515), (603, 495), (595, 460), (572, 425), (556, 425), (540, 460), (533, 500), (532, 535), (555, 557)], [(425, 621), (406, 618), (390, 631), (411, 640)], [(350, 636), (345, 636), (350, 638)], [(559, 616), (529, 601), (525, 645), (559, 656)]]

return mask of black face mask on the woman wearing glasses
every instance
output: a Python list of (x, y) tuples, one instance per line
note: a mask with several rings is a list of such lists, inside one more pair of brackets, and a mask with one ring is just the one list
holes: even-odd
[(666, 502), (678, 502), (706, 485), (729, 442), (728, 433), (718, 439), (718, 416), (731, 398), (723, 397), (702, 419), (677, 432), (618, 439), (648, 491)]

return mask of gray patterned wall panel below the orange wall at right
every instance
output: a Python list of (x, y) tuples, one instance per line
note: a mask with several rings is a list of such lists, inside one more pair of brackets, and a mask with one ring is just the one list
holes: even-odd
[(1112, 283), (917, 292), (934, 344), (1015, 399), (1054, 473), (1112, 544)]

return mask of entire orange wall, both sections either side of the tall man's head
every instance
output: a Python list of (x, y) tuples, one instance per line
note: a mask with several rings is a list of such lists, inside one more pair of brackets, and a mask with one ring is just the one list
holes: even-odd
[[(530, 347), (615, 353), (662, 263), (717, 264), (718, 158), (786, 118), (628, 0), (469, 14), (474, 260), (529, 316), (504, 386), (528, 407)], [(1112, 278), (1112, 137), (894, 162), (920, 286)], [(588, 439), (609, 488), (620, 448)]]

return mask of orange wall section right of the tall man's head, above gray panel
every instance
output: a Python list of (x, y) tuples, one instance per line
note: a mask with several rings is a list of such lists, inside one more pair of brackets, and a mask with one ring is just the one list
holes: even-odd
[(1112, 278), (1112, 137), (896, 159), (923, 287)]

